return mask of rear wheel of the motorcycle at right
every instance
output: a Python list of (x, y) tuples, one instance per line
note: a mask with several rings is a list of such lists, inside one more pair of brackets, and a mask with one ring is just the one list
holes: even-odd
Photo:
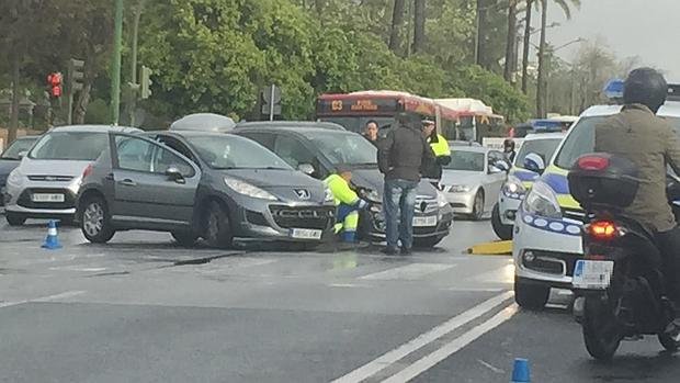
[(614, 357), (623, 338), (609, 302), (600, 297), (586, 297), (582, 330), (588, 353), (601, 361)]

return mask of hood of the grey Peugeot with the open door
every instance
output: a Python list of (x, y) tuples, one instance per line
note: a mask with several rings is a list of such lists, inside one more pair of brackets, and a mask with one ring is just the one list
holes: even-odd
[(297, 170), (233, 169), (220, 170), (219, 176), (248, 182), (288, 203), (324, 203), (326, 196), (324, 182)]

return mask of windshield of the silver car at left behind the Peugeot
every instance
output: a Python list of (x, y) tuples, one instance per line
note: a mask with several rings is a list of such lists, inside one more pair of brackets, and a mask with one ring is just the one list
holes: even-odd
[(29, 154), (33, 159), (93, 161), (106, 148), (106, 132), (52, 132)]

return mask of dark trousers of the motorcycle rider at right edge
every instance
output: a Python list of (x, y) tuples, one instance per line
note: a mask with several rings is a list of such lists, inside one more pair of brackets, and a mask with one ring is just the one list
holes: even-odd
[(666, 292), (673, 303), (676, 318), (680, 318), (680, 227), (657, 233), (656, 237), (662, 258), (661, 272), (666, 280)]

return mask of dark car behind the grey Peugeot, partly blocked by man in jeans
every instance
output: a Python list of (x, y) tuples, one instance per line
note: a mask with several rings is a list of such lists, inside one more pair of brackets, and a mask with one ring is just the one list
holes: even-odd
[[(270, 148), (291, 166), (324, 180), (339, 164), (352, 167), (352, 183), (373, 207), (363, 212), (359, 235), (382, 241), (385, 221), (382, 212), (383, 174), (377, 169), (376, 148), (356, 133), (313, 127), (309, 122), (285, 125), (269, 122), (237, 124), (235, 134), (254, 139)], [(453, 211), (445, 196), (429, 182), (420, 182), (413, 217), (413, 245), (432, 247), (449, 235)]]

